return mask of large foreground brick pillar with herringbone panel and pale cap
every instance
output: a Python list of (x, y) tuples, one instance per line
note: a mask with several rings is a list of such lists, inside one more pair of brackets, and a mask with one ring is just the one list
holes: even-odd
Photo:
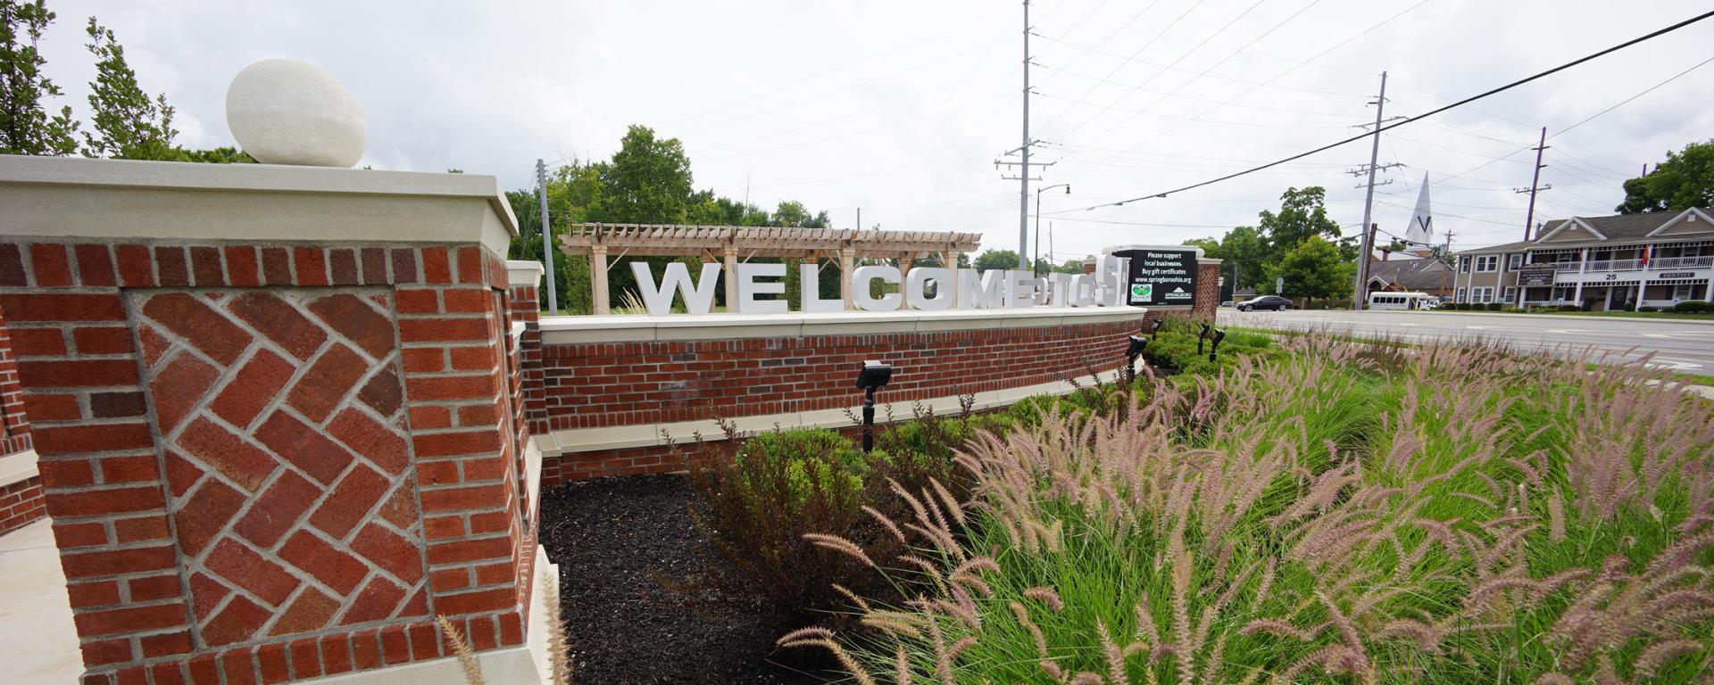
[[(154, 185), (110, 182), (139, 164)], [(428, 175), (209, 166), (0, 161), (0, 204), (29, 207), (0, 219), (0, 312), (84, 683), (437, 659), (435, 615), (478, 649), (524, 644), (535, 507), (504, 200), (485, 176), (434, 175), (418, 199)], [(45, 200), (63, 192), (84, 202)], [(166, 214), (207, 202), (226, 206)], [(317, 240), (377, 221), (391, 241)], [(399, 240), (411, 228), (432, 238)]]

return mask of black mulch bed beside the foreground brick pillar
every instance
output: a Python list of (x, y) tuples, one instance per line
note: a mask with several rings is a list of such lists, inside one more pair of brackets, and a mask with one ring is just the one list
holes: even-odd
[(771, 625), (754, 596), (698, 581), (725, 569), (691, 519), (691, 507), (699, 505), (682, 474), (598, 478), (542, 490), (542, 545), (560, 572), (571, 680), (843, 680), (826, 671), (819, 651), (775, 649), (776, 637), (800, 625)]

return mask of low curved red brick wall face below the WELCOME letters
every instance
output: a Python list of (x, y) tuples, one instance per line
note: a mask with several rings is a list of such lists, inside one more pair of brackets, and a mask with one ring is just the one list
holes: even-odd
[(886, 402), (1035, 385), (1118, 368), (1145, 320), (756, 337), (547, 344), (545, 425), (535, 432), (838, 409), (862, 404), (864, 360), (893, 365)]

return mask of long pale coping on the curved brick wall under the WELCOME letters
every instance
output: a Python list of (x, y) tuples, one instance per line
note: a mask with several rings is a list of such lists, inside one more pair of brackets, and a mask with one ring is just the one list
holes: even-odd
[(543, 344), (1030, 329), (1142, 319), (1142, 307), (542, 317)]

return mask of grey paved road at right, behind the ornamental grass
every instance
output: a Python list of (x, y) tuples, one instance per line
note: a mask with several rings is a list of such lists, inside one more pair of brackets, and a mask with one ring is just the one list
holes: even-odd
[(1558, 317), (1548, 313), (1464, 312), (1236, 312), (1222, 308), (1220, 325), (1277, 331), (1333, 331), (1402, 341), (1493, 339), (1525, 349), (1647, 354), (1651, 365), (1680, 373), (1714, 375), (1714, 324), (1673, 319)]

